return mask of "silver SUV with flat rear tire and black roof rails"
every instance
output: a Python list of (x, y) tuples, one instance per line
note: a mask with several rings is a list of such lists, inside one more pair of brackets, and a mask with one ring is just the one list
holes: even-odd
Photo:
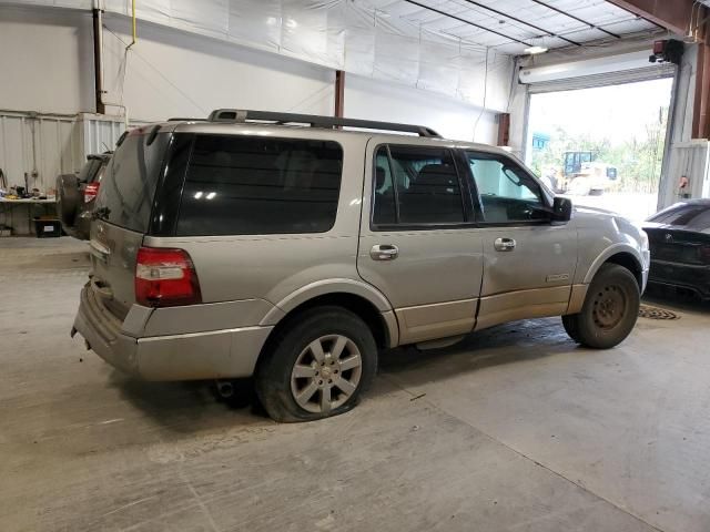
[(327, 116), (133, 130), (94, 213), (72, 335), (148, 380), (254, 376), (280, 421), (351, 409), (381, 349), (542, 316), (616, 346), (649, 267), (642, 231), (503, 150)]

